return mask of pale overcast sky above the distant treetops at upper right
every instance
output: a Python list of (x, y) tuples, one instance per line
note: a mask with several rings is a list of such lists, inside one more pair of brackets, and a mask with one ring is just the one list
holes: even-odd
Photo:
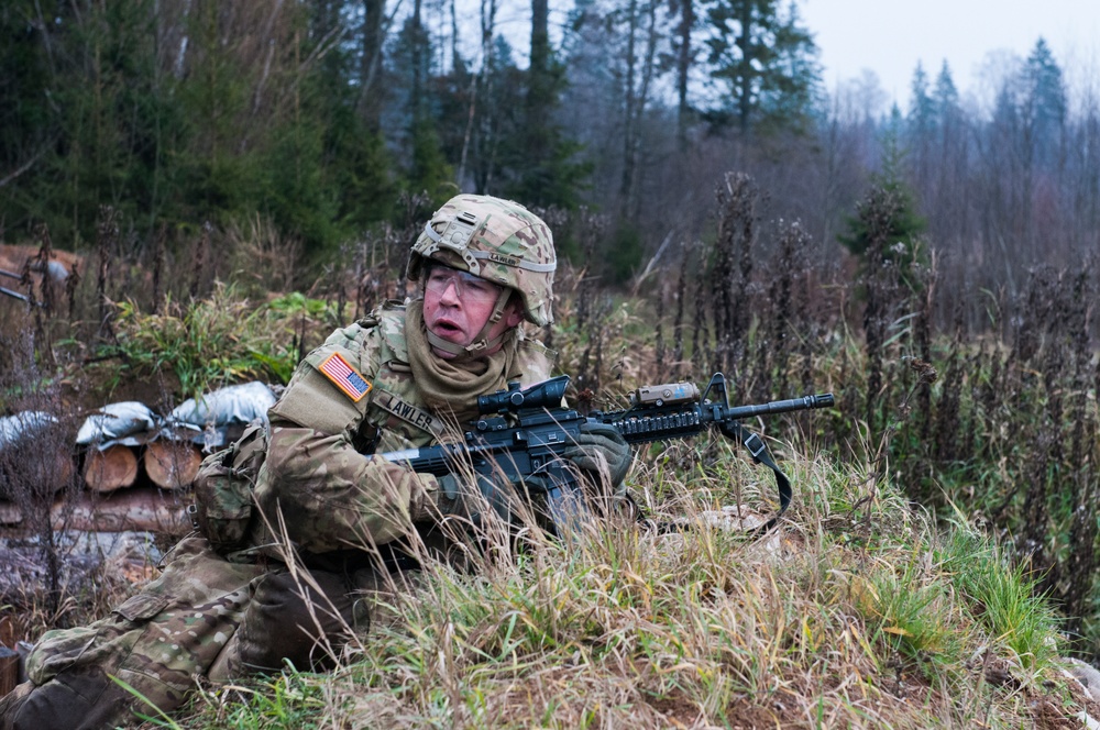
[(959, 91), (981, 97), (989, 54), (1026, 58), (1040, 36), (1069, 82), (1096, 82), (1100, 0), (800, 0), (799, 10), (829, 92), (871, 69), (904, 109), (917, 60), (934, 80), (947, 59)]

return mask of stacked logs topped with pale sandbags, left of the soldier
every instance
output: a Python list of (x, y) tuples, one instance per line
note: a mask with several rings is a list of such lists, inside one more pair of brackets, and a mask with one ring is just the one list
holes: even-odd
[[(41, 495), (48, 493), (56, 495), (50, 509), (55, 530), (182, 534), (190, 527), (184, 509), (205, 454), (232, 443), (249, 423), (266, 420), (274, 402), (268, 386), (249, 383), (187, 400), (163, 416), (136, 401), (110, 403), (84, 421), (69, 453), (45, 446), (45, 434), (58, 423), (55, 416), (7, 417), (0, 420), (0, 531), (30, 528), (24, 511), (33, 509), (32, 502), (44, 510), (43, 502), (50, 500)], [(2, 458), (6, 451), (18, 453), (18, 458)], [(32, 461), (28, 455), (48, 455), (51, 463), (32, 476), (26, 469), (3, 467)], [(32, 485), (34, 474), (47, 475), (53, 490)], [(65, 489), (74, 484), (77, 494)]]

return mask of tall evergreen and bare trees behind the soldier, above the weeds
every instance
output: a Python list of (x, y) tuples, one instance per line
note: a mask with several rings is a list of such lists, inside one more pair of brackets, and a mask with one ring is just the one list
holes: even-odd
[(866, 79), (826, 91), (796, 4), (584, 0), (553, 34), (548, 2), (530, 11), (516, 38), (491, 0), (4, 3), (4, 237), (45, 223), (79, 248), (101, 206), (131, 247), (258, 214), (316, 261), (400, 221), (403, 192), (468, 190), (606, 214), (622, 281), (713, 226), (739, 170), (821, 262), (876, 174), (977, 285), (1097, 247), (1100, 95), (1042, 38), (987, 81), (992, 108), (919, 66), (906, 113), (880, 118)]

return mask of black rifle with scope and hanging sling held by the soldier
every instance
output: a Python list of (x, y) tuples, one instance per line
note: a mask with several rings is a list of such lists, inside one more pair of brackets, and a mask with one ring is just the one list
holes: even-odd
[(713, 425), (723, 435), (744, 444), (754, 462), (774, 473), (779, 511), (759, 528), (767, 531), (791, 504), (791, 482), (772, 460), (763, 440), (744, 428), (741, 419), (828, 408), (834, 402), (833, 394), (826, 392), (754, 406), (730, 406), (726, 378), (716, 373), (702, 396), (693, 383), (646, 386), (630, 394), (630, 408), (626, 410), (597, 410), (583, 416), (562, 405), (568, 385), (568, 375), (526, 390), (521, 390), (518, 383), (509, 383), (507, 390), (477, 398), (481, 418), (464, 433), (464, 443), (407, 449), (381, 456), (407, 464), (415, 472), (442, 476), (461, 474), (472, 467), (475, 473), (494, 480), (522, 482), (529, 489), (543, 490), (553, 530), (560, 535), (568, 521), (576, 516), (581, 501), (576, 475), (561, 454), (575, 442), (583, 424), (612, 425), (627, 443), (692, 438)]

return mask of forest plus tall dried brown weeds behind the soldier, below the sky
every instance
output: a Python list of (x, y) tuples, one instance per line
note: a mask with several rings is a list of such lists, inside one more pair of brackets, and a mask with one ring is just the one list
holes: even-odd
[(556, 230), (579, 384), (623, 377), (624, 292), (647, 376), (827, 380), (845, 412), (812, 435), (996, 527), (1096, 653), (1097, 79), (1036, 38), (991, 107), (919, 66), (880, 117), (824, 88), (796, 3), (529, 10), (521, 59), (494, 0), (6, 2), (0, 240), (98, 252), (103, 339), (105, 297), (198, 301), (242, 239), (263, 288), (360, 313), (433, 206), (514, 198)]

